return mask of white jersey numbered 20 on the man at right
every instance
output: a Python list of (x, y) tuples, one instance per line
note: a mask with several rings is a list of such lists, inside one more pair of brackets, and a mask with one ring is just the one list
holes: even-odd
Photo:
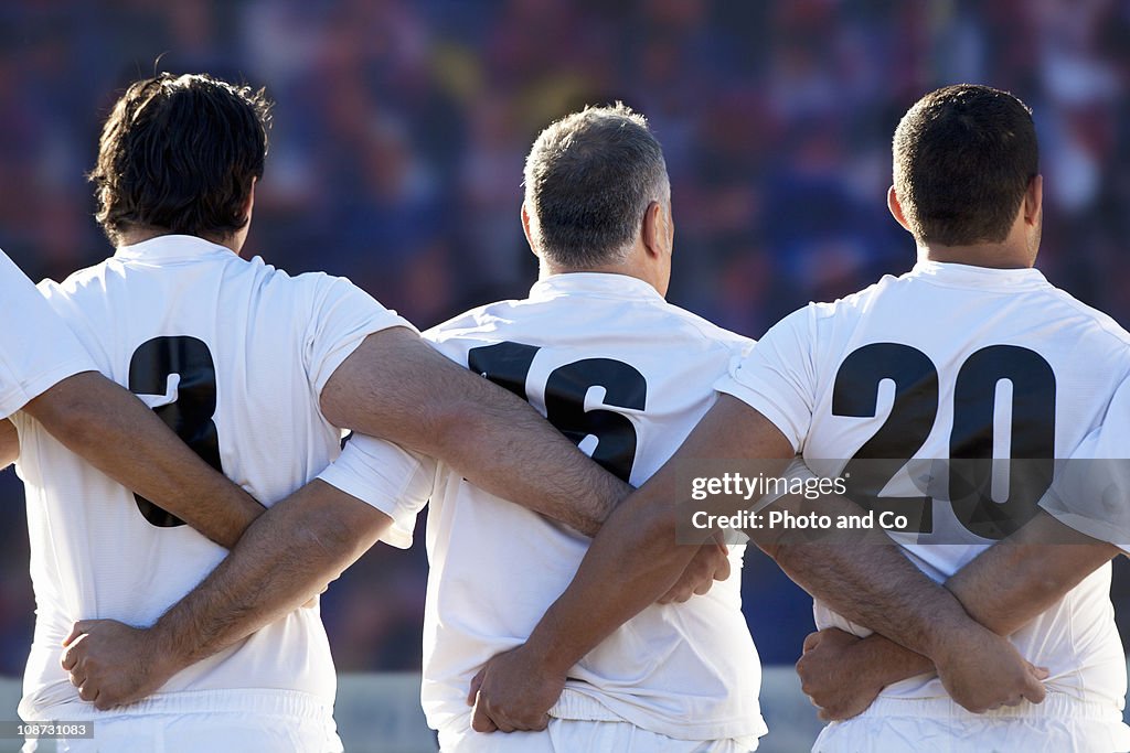
[[(1007, 522), (992, 523), (997, 513), (1014, 523), (1025, 509), (1034, 513), (1052, 458), (1070, 455), (1099, 423), (1128, 373), (1130, 334), (1038, 271), (920, 262), (902, 277), (785, 317), (719, 389), (773, 421), (818, 475), (851, 475), (858, 459), (847, 458), (922, 459), (893, 464), (869, 488), (850, 484), (849, 497), (912, 520), (921, 516), (923, 533), (895, 540), (942, 580), (1008, 533)], [(1025, 458), (1019, 473), (1027, 487), (1014, 476), (1007, 496), (999, 487), (992, 498), (955, 491), (964, 482), (953, 481), (949, 464), (930, 462), (950, 457)], [(1011, 640), (1051, 669), (1050, 691), (1121, 708), (1125, 659), (1110, 583), (1107, 564)], [(866, 633), (820, 603), (815, 611), (818, 628)], [(883, 691), (944, 694), (932, 675)]]

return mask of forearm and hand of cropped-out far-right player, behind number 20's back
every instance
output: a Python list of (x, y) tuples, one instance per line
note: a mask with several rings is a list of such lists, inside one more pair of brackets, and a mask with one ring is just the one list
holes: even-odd
[[(957, 571), (946, 588), (970, 616), (1000, 636), (1009, 636), (1118, 551), (1113, 544), (1072, 531), (1041, 510), (1023, 528)], [(834, 629), (809, 636), (805, 655), (797, 663), (802, 688), (825, 719), (854, 716), (886, 685), (933, 671), (929, 658), (879, 633), (857, 639)], [(852, 681), (844, 682), (845, 677)]]

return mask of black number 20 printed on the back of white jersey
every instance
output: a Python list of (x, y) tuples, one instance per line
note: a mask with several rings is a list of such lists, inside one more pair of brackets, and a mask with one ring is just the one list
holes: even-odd
[[(922, 351), (880, 342), (852, 352), (836, 374), (835, 415), (873, 418), (878, 387), (895, 384), (890, 414), (844, 466), (847, 493), (867, 509), (894, 510), (911, 529), (933, 528), (929, 497), (888, 498), (879, 491), (925, 444), (938, 417), (938, 371)], [(992, 498), (993, 419), (997, 385), (1012, 385), (1008, 498)], [(1035, 514), (1051, 485), (1055, 452), (1055, 375), (1038, 353), (1016, 345), (991, 345), (970, 356), (954, 386), (949, 437), (949, 501), (971, 533), (999, 540)], [(866, 462), (860, 462), (866, 461)]]

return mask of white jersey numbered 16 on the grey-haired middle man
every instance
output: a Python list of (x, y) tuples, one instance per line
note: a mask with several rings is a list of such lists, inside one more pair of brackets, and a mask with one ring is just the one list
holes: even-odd
[[(751, 344), (671, 306), (641, 280), (601, 273), (549, 277), (524, 300), (475, 309), (425, 338), (529, 400), (635, 485), (675, 453), (714, 403), (714, 380)], [(442, 464), (433, 490), (426, 467), (390, 453), (351, 441), (321, 478), (362, 499), (401, 492), (390, 537), (401, 545), (432, 494), (423, 703), (432, 727), (467, 728), (475, 673), (525, 641), (568, 586), (590, 540)], [(399, 481), (389, 479), (389, 467)], [(734, 573), (741, 549), (731, 549)], [(629, 721), (679, 739), (741, 737), (753, 747), (766, 730), (759, 685), (734, 576), (705, 596), (652, 605), (627, 622), (572, 668), (549, 713)]]

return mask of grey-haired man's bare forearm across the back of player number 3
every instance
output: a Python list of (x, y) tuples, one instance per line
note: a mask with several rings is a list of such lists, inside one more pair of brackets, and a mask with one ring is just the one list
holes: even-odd
[(330, 508), (340, 497), (313, 481), (272, 507), (157, 621), (151, 633), (174, 672), (293, 612), (373, 545), (390, 519), (357, 500), (356, 516), (336, 515)]

